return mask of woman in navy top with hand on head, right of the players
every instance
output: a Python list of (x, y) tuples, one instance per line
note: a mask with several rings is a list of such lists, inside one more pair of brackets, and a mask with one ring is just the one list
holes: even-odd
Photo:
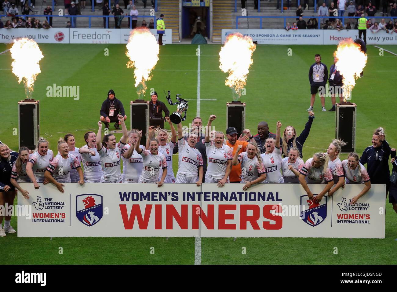
[(385, 184), (386, 197), (390, 186), (389, 156), (391, 148), (377, 130), (372, 136), (372, 146), (368, 146), (361, 155), (360, 163), (367, 163), (371, 184)]

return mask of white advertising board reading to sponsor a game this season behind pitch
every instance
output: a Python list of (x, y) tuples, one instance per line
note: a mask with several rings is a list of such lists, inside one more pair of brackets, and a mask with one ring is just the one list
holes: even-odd
[[(358, 39), (358, 29), (222, 29), (222, 43), (227, 35), (239, 32), (252, 37), (258, 44), (338, 44), (345, 38)], [(397, 44), (397, 34), (386, 31), (372, 33), (367, 29), (367, 44)]]

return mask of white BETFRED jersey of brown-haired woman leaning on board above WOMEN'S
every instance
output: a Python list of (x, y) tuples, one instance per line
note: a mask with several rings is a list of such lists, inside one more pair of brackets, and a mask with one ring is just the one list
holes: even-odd
[(160, 168), (167, 168), (166, 157), (161, 153), (152, 155), (150, 150), (146, 149), (142, 150), (141, 157), (143, 160), (141, 180), (147, 183), (160, 181)]

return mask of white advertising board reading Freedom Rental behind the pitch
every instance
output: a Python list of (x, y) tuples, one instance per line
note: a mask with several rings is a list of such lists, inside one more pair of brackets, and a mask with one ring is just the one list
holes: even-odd
[[(62, 44), (126, 44), (131, 29), (96, 29), (96, 28), (50, 28), (50, 29), (1, 29), (0, 43), (12, 43), (13, 39), (28, 37), (37, 43)], [(156, 29), (150, 32), (158, 40)], [(166, 29), (163, 43), (172, 43), (172, 29)]]

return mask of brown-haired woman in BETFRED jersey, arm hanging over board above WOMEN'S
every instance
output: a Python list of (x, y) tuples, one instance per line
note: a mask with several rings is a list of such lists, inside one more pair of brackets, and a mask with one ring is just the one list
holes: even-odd
[[(167, 176), (167, 161), (166, 157), (158, 152), (158, 140), (152, 138), (149, 141), (149, 150), (140, 147), (142, 133), (139, 134), (138, 141), (135, 143), (135, 150), (142, 157), (143, 167), (142, 174), (139, 177), (140, 183), (157, 184), (160, 188), (164, 184)], [(160, 178), (160, 168), (163, 173)]]

